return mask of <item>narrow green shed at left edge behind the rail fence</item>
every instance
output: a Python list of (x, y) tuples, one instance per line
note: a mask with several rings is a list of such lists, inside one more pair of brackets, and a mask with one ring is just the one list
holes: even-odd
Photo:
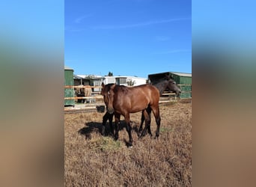
[[(70, 67), (64, 67), (64, 77), (65, 77), (65, 86), (73, 86), (74, 79), (73, 79), (74, 70)], [(65, 97), (74, 97), (75, 91), (74, 88), (64, 88), (64, 96)], [(75, 99), (64, 99), (64, 105), (75, 105)]]

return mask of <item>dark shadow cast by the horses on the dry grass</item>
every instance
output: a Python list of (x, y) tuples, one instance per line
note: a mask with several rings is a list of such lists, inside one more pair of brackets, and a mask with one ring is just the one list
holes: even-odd
[[(85, 127), (83, 127), (82, 129), (79, 129), (78, 133), (79, 135), (84, 135), (85, 138), (87, 139), (91, 139), (91, 133), (96, 132), (96, 133), (100, 133), (102, 132), (102, 128), (103, 128), (103, 123), (98, 123), (98, 122), (88, 122), (85, 123)], [(114, 136), (111, 133), (110, 130), (110, 126), (109, 123), (106, 123), (106, 127), (105, 127), (105, 135), (103, 136)], [(125, 120), (121, 120), (120, 124), (119, 124), (119, 130), (126, 130), (127, 128), (127, 123), (125, 122)], [(113, 129), (115, 129), (115, 121), (113, 121)], [(135, 131), (137, 133), (137, 135), (139, 135), (139, 131), (138, 131), (138, 126), (132, 126), (132, 131)]]

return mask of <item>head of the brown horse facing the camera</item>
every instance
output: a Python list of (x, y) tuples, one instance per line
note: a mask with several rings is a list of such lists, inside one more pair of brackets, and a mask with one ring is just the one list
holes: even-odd
[(104, 83), (101, 84), (101, 95), (103, 95), (103, 99), (106, 105), (106, 109), (109, 112), (109, 114), (114, 113), (114, 108), (113, 108), (113, 102), (114, 102), (114, 88), (115, 84), (108, 84), (104, 85)]

